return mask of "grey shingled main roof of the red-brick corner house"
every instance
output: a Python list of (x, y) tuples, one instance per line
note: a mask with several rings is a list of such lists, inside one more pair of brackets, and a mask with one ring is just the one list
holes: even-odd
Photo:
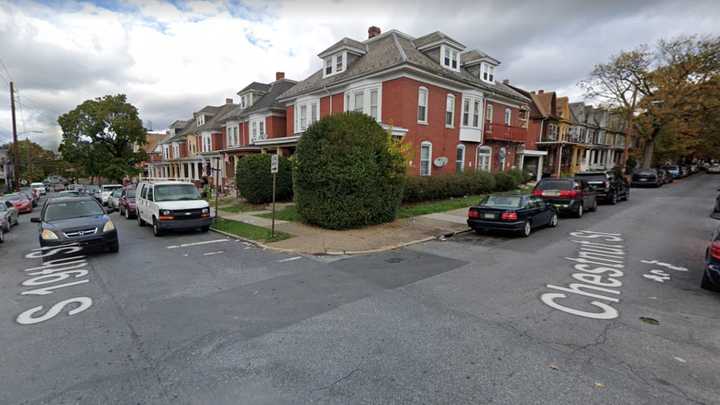
[[(434, 34), (436, 33), (430, 35)], [(404, 35), (399, 35), (395, 31), (386, 32), (376, 38), (377, 39), (367, 42), (367, 54), (351, 63), (344, 72), (323, 79), (322, 69), (320, 69), (282, 94), (280, 98), (287, 99), (296, 97), (327, 86), (332, 86), (336, 83), (359, 78), (394, 66), (408, 64), (432, 72), (438, 76), (465, 82), (468, 85), (483, 90), (496, 92), (523, 102), (529, 101), (522, 94), (500, 82), (489, 84), (481, 81), (478, 77), (473, 76), (464, 69), (461, 69), (460, 72), (454, 72), (443, 68), (438, 61), (430, 59), (430, 57), (416, 48), (414, 42), (417, 42), (417, 40), (412, 41)]]

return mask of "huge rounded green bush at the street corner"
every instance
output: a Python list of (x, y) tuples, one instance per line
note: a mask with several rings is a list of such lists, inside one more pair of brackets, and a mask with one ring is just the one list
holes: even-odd
[(295, 154), (295, 203), (311, 224), (356, 228), (395, 219), (405, 161), (371, 117), (334, 114), (308, 128)]

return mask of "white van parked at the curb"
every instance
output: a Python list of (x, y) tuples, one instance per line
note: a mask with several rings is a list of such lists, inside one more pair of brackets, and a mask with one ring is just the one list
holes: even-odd
[(141, 182), (137, 190), (138, 225), (151, 225), (155, 236), (167, 230), (210, 229), (210, 206), (192, 183)]

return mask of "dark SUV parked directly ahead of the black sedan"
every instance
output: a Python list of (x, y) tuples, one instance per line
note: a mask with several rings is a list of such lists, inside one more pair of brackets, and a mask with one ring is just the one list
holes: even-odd
[(586, 211), (597, 209), (597, 194), (585, 180), (573, 178), (542, 179), (533, 189), (534, 197), (541, 197), (561, 213), (580, 218)]

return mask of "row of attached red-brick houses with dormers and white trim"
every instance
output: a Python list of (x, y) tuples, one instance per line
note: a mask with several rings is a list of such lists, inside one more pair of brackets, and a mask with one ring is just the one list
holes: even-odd
[[(556, 153), (570, 139), (560, 137), (562, 123), (597, 131), (595, 125), (605, 123), (595, 120), (607, 120), (590, 107), (580, 124), (567, 98), (558, 108), (554, 93), (495, 80), (499, 60), (441, 32), (413, 38), (370, 27), (366, 40), (343, 38), (318, 58), (320, 69), (304, 80), (278, 72), (272, 83), (252, 82), (237, 92), (238, 103), (228, 98), (173, 122), (146, 175), (199, 180), (211, 173), (229, 186), (243, 156), (292, 155), (314, 122), (357, 111), (410, 145), (411, 175), (519, 168), (539, 178), (569, 159), (567, 152)], [(593, 162), (595, 156), (587, 158)]]

